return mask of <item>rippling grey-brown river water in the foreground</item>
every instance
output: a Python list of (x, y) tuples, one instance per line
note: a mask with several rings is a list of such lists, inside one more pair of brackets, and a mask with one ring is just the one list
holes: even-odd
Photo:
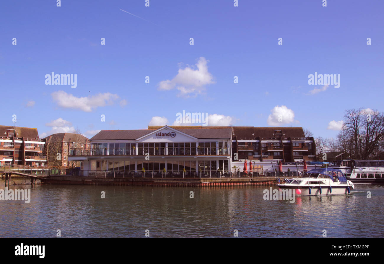
[(31, 189), (31, 201), (0, 200), (0, 237), (55, 237), (57, 229), (62, 237), (233, 237), (235, 229), (238, 237), (384, 236), (384, 186), (377, 185), (294, 203), (264, 200), (266, 186), (11, 188)]

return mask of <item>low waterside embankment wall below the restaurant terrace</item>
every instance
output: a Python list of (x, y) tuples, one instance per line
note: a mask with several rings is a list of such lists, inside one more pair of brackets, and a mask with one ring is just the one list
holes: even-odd
[(43, 183), (118, 186), (251, 186), (275, 185), (275, 177), (257, 178), (96, 178), (77, 176), (50, 176)]

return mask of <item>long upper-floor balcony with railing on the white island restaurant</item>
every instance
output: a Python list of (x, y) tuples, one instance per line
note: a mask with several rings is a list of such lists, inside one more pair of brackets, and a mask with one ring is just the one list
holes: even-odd
[(151, 148), (97, 148), (91, 150), (70, 149), (69, 156), (190, 156), (190, 155), (228, 155), (228, 148), (218, 147), (151, 147)]

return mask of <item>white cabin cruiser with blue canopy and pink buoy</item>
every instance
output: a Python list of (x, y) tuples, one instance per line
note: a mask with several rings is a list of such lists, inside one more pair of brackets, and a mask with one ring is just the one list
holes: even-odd
[(354, 189), (351, 181), (338, 169), (314, 169), (304, 173), (301, 178), (284, 179), (278, 184), (281, 189), (296, 189), (296, 195), (335, 195), (349, 194)]

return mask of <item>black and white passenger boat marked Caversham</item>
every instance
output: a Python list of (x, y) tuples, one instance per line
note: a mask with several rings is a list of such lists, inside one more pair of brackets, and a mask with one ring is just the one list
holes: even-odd
[(383, 160), (336, 160), (328, 168), (337, 168), (354, 184), (384, 184)]

